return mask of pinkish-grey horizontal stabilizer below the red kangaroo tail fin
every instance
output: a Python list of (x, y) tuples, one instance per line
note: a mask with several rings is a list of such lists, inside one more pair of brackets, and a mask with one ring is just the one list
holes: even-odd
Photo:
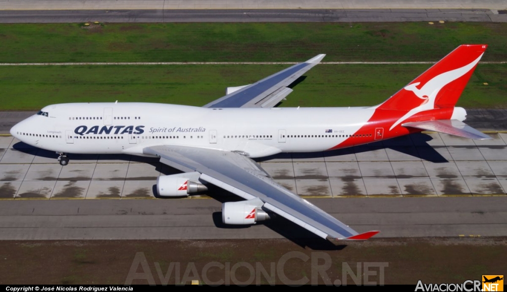
[(469, 138), (474, 140), (489, 140), (493, 139), (488, 135), (477, 131), (476, 129), (468, 126), (466, 123), (457, 119), (439, 119), (439, 120), (426, 120), (406, 122), (402, 124), (403, 127), (412, 127), (416, 129), (440, 132), (444, 134)]

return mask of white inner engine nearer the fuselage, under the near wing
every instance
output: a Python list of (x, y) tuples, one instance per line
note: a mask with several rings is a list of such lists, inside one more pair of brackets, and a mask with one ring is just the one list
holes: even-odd
[(199, 182), (198, 172), (161, 176), (157, 178), (157, 192), (162, 197), (186, 197), (208, 188)]

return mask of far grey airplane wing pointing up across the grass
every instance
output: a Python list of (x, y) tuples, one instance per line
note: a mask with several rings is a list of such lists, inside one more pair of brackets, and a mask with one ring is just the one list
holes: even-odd
[(254, 84), (237, 87), (235, 88), (237, 90), (203, 107), (273, 107), (293, 91), (287, 86), (317, 65), (324, 56), (324, 54), (317, 55), (304, 63), (291, 66)]

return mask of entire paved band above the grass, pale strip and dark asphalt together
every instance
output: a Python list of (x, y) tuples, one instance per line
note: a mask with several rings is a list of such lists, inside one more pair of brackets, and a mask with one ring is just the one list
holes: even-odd
[(0, 23), (507, 22), (503, 0), (0, 0)]

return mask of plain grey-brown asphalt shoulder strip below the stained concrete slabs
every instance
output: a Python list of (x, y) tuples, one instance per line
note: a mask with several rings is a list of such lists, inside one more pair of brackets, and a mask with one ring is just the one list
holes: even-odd
[[(507, 236), (507, 196), (310, 199), (376, 237)], [(0, 240), (315, 238), (283, 218), (225, 226), (212, 199), (24, 200), (0, 204)]]

